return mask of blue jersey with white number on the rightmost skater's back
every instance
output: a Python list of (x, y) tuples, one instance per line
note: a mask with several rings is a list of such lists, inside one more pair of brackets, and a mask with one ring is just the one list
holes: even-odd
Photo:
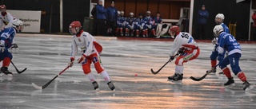
[(234, 53), (242, 53), (240, 44), (230, 33), (220, 33), (218, 40), (218, 53), (224, 53), (224, 50), (227, 50), (229, 55)]

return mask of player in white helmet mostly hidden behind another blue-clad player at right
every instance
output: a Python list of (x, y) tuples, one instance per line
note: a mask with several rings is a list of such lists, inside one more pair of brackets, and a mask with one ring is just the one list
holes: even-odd
[[(230, 29), (223, 23), (224, 21), (224, 15), (223, 14), (217, 14), (215, 17), (215, 22), (217, 25), (222, 25), (224, 32), (226, 33), (230, 33)], [(212, 41), (213, 45), (214, 45), (214, 49), (210, 55), (210, 64), (211, 64), (211, 68), (210, 70), (207, 70), (206, 72), (216, 72), (216, 64), (217, 64), (217, 57), (218, 60), (222, 60), (225, 56), (225, 53), (222, 53), (220, 55), (218, 55), (218, 37), (214, 37), (214, 40)]]

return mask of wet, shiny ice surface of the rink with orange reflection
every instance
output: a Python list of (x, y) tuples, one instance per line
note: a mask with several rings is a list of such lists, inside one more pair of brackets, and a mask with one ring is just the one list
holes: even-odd
[[(71, 36), (18, 34), (15, 41), (19, 49), (10, 50), (18, 74), (10, 64), (10, 77), (0, 77), (0, 109), (150, 109), (150, 108), (222, 108), (246, 109), (256, 106), (256, 88), (242, 90), (242, 82), (234, 76), (236, 86), (224, 88), (226, 76), (209, 74), (210, 53), (214, 45), (199, 42), (201, 53), (197, 59), (186, 63), (182, 84), (167, 81), (174, 74), (171, 62), (157, 71), (169, 59), (172, 41), (120, 41), (116, 37), (96, 37), (103, 46), (102, 64), (109, 73), (116, 91), (110, 91), (92, 64), (92, 72), (98, 80), (100, 91), (82, 72), (81, 64), (58, 76), (47, 88), (35, 89), (31, 83), (42, 86), (66, 68), (70, 61)], [(256, 83), (256, 45), (241, 44), (240, 67), (250, 84)], [(77, 56), (77, 58), (80, 56)], [(218, 68), (217, 72), (221, 72)], [(135, 76), (135, 75), (138, 76)]]

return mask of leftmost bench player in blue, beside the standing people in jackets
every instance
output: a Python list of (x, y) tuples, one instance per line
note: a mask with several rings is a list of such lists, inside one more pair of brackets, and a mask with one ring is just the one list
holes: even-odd
[(120, 11), (120, 17), (118, 17), (117, 21), (116, 33), (118, 33), (119, 31), (121, 36), (123, 36), (123, 29), (126, 28), (126, 18), (124, 17), (124, 15), (125, 13), (123, 11)]

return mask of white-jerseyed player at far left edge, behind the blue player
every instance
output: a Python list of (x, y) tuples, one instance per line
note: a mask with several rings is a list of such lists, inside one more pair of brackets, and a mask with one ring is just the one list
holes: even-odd
[[(6, 6), (1, 5), (0, 6), (1, 14), (0, 14), (0, 31), (2, 32), (3, 29), (7, 29), (12, 26), (14, 22), (14, 17), (6, 12)], [(18, 49), (18, 45), (13, 40), (13, 45), (11, 46), (11, 49)]]

